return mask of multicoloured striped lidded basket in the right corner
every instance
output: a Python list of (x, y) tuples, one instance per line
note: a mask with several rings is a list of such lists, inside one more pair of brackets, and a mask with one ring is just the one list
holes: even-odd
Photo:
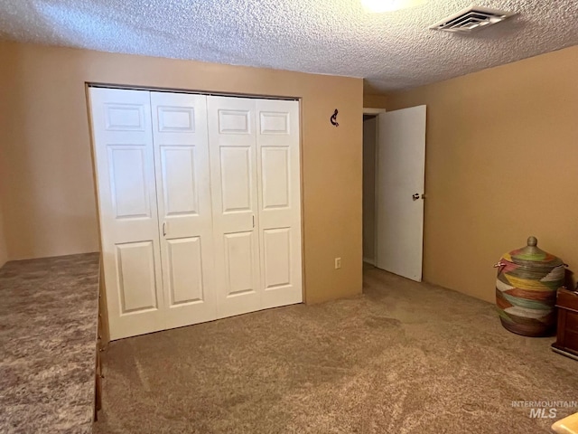
[(494, 265), (496, 305), (502, 325), (525, 336), (555, 332), (556, 291), (564, 285), (564, 262), (538, 249), (535, 237), (527, 246), (506, 253)]

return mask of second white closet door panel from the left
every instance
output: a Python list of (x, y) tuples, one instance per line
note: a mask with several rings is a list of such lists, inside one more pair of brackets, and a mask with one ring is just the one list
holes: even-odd
[(151, 92), (166, 328), (217, 317), (207, 98)]

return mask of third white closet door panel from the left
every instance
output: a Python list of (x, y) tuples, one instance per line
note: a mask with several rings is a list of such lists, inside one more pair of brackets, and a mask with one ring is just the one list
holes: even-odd
[(256, 232), (255, 100), (208, 97), (219, 317), (262, 308)]

